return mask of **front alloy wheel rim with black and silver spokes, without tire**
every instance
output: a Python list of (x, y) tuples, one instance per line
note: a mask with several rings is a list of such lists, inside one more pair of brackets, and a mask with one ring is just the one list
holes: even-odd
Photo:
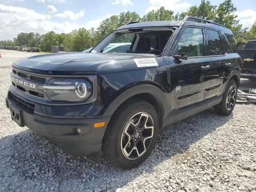
[(154, 136), (154, 122), (150, 114), (139, 112), (132, 116), (121, 138), (121, 150), (124, 156), (135, 160), (148, 150)]

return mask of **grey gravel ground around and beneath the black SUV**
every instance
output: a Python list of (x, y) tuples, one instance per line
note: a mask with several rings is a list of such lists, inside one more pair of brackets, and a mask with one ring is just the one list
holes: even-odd
[[(0, 52), (0, 191), (256, 191), (256, 105), (236, 104), (226, 117), (208, 109), (164, 128), (142, 165), (121, 170), (71, 156), (11, 121), (10, 65), (32, 53)], [(256, 83), (242, 79), (246, 87)]]

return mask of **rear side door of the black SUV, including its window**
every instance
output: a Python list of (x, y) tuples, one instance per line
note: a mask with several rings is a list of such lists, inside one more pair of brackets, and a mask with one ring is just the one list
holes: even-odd
[[(230, 72), (232, 59), (226, 51), (222, 41), (221, 33), (216, 30), (205, 29), (207, 49), (206, 54), (210, 56), (211, 82), (206, 92), (206, 98), (219, 96), (224, 90), (224, 81)], [(229, 49), (230, 53), (231, 49)]]

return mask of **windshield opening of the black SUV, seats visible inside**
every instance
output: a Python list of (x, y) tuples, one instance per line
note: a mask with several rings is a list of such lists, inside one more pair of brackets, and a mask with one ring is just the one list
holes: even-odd
[(172, 33), (170, 28), (120, 30), (103, 39), (92, 52), (160, 55)]

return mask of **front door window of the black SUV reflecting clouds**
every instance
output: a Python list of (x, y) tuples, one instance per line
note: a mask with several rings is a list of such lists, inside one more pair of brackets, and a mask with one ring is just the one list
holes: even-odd
[(186, 28), (178, 42), (178, 54), (188, 57), (204, 56), (202, 29)]

